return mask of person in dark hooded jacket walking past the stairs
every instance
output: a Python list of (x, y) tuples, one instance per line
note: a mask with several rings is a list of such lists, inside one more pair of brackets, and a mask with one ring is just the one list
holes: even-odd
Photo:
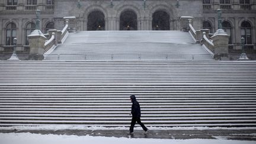
[(145, 134), (148, 133), (148, 128), (146, 128), (144, 126), (144, 124), (140, 121), (140, 105), (136, 101), (135, 95), (131, 95), (130, 100), (132, 101), (133, 104), (132, 104), (132, 111), (131, 111), (131, 113), (132, 113), (132, 122), (131, 122), (129, 133), (133, 134), (133, 128), (135, 126), (136, 121), (137, 121), (138, 124), (140, 124), (142, 129), (145, 131)]

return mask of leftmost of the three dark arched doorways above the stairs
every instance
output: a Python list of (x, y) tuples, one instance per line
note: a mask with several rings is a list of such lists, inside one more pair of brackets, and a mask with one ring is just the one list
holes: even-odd
[(105, 30), (105, 15), (101, 11), (92, 11), (88, 15), (87, 30)]

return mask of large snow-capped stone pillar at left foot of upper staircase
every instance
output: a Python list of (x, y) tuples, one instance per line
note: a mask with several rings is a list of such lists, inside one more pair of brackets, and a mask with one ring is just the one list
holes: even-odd
[[(28, 41), (30, 44), (30, 60), (42, 60), (44, 59), (44, 43), (46, 37), (44, 37), (43, 33), (40, 30), (34, 30), (30, 35), (28, 35)], [(35, 55), (37, 57), (35, 57)]]

